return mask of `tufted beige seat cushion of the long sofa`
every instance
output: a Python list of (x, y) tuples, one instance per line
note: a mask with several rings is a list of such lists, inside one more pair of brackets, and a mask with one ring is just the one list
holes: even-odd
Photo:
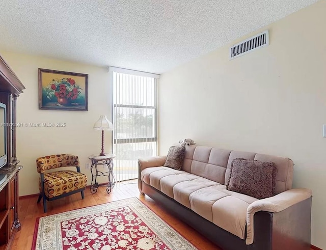
[(204, 177), (164, 166), (144, 169), (141, 179), (216, 226), (245, 238), (247, 208), (258, 199), (227, 190), (225, 185)]

